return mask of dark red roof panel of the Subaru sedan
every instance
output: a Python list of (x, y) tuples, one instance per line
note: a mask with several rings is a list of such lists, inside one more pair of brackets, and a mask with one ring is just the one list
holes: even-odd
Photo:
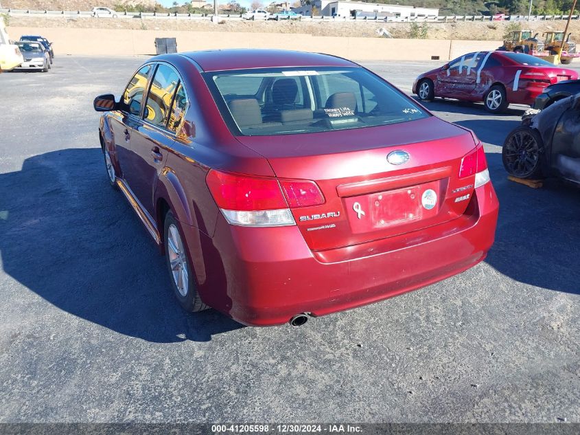
[(358, 67), (349, 60), (328, 54), (281, 49), (222, 49), (181, 53), (203, 71), (277, 67)]

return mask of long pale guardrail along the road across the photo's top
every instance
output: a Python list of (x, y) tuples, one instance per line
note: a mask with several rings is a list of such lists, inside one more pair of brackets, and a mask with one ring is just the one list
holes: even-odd
[[(92, 17), (91, 11), (67, 11), (67, 10), (23, 10), (23, 9), (0, 9), (0, 14), (8, 16), (45, 16), (53, 18), (87, 18)], [(116, 19), (211, 19), (213, 13), (206, 14), (178, 14), (172, 12), (117, 12)], [(220, 19), (240, 20), (242, 14), (218, 14)], [(112, 18), (111, 18), (112, 19)], [(387, 23), (456, 23), (461, 21), (562, 21), (568, 19), (568, 15), (506, 15), (503, 19), (494, 19), (487, 15), (447, 15), (447, 16), (301, 16), (303, 21), (329, 21), (329, 22), (368, 22), (383, 21)], [(572, 20), (579, 20), (580, 15), (572, 15)]]

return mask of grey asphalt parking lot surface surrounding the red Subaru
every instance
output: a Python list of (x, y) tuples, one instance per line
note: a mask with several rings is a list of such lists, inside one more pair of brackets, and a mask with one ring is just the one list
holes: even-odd
[[(143, 58), (58, 56), (0, 75), (0, 422), (580, 423), (580, 191), (507, 181), (524, 107), (427, 107), (485, 142), (500, 199), (487, 260), (301, 328), (176, 302), (107, 185), (100, 93)], [(441, 63), (365, 64), (410, 91)]]

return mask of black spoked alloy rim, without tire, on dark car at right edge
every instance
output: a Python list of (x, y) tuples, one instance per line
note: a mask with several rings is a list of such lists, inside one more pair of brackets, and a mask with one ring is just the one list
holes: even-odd
[(504, 163), (516, 177), (529, 177), (537, 168), (540, 148), (528, 131), (516, 131), (504, 145)]

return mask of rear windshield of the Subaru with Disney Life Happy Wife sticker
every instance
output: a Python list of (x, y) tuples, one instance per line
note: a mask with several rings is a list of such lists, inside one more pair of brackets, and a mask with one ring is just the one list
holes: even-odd
[(244, 69), (204, 77), (235, 135), (363, 129), (429, 116), (361, 67)]

